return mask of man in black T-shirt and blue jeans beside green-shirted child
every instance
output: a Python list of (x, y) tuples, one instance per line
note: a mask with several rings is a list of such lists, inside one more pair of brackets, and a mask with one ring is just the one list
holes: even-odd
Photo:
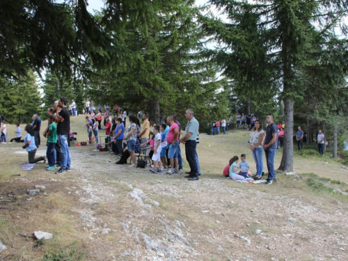
[(66, 108), (68, 100), (66, 97), (61, 97), (58, 102), (56, 110), (56, 123), (57, 123), (57, 139), (61, 146), (62, 164), (61, 168), (56, 171), (56, 174), (63, 174), (66, 171), (70, 171), (70, 150), (68, 145), (69, 133), (70, 133), (70, 116), (69, 111)]

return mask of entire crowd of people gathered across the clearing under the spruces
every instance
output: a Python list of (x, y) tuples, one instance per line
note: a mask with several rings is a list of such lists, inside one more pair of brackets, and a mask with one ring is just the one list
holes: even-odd
[[(68, 100), (61, 97), (60, 100), (54, 102), (54, 106), (47, 109), (48, 126), (43, 132), (43, 136), (47, 137), (47, 152), (46, 156), (35, 157), (37, 148), (40, 147), (40, 130), (41, 119), (37, 114), (33, 115), (33, 122), (24, 127), (26, 136), (22, 139), (22, 129), (19, 124), (16, 125), (16, 138), (11, 139), (11, 142), (22, 142), (22, 146), (28, 152), (29, 163), (33, 164), (38, 161), (48, 161), (47, 171), (52, 171), (59, 167), (56, 174), (70, 171), (70, 149), (69, 139), (71, 136), (70, 117), (77, 115), (77, 106), (74, 100), (68, 105)], [(185, 113), (187, 119), (187, 126), (184, 134), (182, 132), (182, 125), (177, 120), (177, 116), (168, 116), (162, 120), (160, 125), (155, 124), (155, 120), (148, 120), (148, 115), (139, 111), (138, 117), (133, 114), (129, 115), (129, 126), (126, 127), (127, 111), (118, 105), (115, 106), (115, 117), (111, 118), (109, 106), (104, 106), (104, 113), (102, 113), (102, 106), (97, 106), (97, 112), (93, 101), (86, 100), (86, 128), (88, 133), (89, 143), (93, 143), (93, 134), (95, 141), (102, 142), (98, 139), (98, 134), (101, 129), (104, 129), (107, 147), (111, 147), (111, 152), (117, 155), (118, 161), (116, 164), (126, 164), (130, 157), (129, 166), (136, 166), (136, 153), (141, 152), (145, 145), (151, 146), (150, 158), (152, 164), (150, 171), (152, 173), (168, 174), (180, 173), (182, 170), (182, 155), (180, 150), (180, 143), (184, 144), (187, 161), (189, 162), (190, 171), (187, 172), (189, 180), (198, 180), (200, 175), (200, 164), (196, 146), (199, 143), (198, 129), (199, 123), (194, 117), (191, 109)], [(102, 120), (104, 118), (104, 127), (102, 127)], [(142, 118), (141, 124), (139, 118)], [(272, 184), (276, 179), (274, 171), (274, 157), (276, 150), (283, 147), (285, 136), (285, 122), (278, 122), (276, 125), (271, 114), (266, 118), (266, 131), (262, 127), (262, 121), (257, 119), (253, 114), (237, 113), (236, 128), (246, 129), (251, 131), (251, 139), (248, 141), (251, 154), (255, 161), (256, 173), (251, 175), (249, 171), (249, 164), (246, 161), (246, 155), (242, 154), (239, 157), (234, 156), (230, 159), (229, 164), (223, 170), (223, 175), (232, 178), (233, 180), (260, 180), (263, 172), (263, 155), (267, 161), (268, 177), (266, 184)], [(1, 136), (0, 141), (6, 143), (7, 127), (4, 120), (1, 121)], [(222, 128), (223, 134), (226, 130), (233, 129), (233, 117), (230, 116), (228, 120), (222, 118), (221, 121), (212, 122), (212, 135), (220, 134)], [(296, 141), (298, 150), (303, 148), (303, 130), (301, 126), (296, 132)], [(324, 134), (319, 130), (317, 136), (317, 144), (319, 154), (324, 154)], [(239, 164), (238, 164), (239, 162)]]

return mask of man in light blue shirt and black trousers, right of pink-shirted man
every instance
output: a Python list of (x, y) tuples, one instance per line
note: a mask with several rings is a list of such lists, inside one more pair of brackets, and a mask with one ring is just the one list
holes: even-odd
[(189, 175), (186, 177), (189, 177), (189, 180), (199, 180), (196, 163), (196, 139), (198, 136), (199, 122), (194, 117), (191, 109), (185, 112), (185, 118), (189, 121), (187, 122), (184, 135), (180, 139), (180, 142), (185, 145), (186, 159), (191, 168)]

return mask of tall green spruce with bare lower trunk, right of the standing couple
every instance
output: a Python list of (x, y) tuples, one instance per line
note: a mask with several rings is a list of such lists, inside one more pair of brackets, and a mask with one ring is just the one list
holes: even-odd
[[(262, 84), (256, 85), (260, 95), (276, 90), (278, 98), (283, 100), (286, 128), (280, 169), (292, 171), (294, 101), (303, 95), (306, 84), (301, 72), (308, 66), (308, 58), (317, 55), (319, 59), (322, 55), (322, 52), (313, 52), (318, 40), (324, 50), (328, 42), (337, 39), (335, 29), (341, 27), (346, 31), (340, 19), (347, 15), (347, 1), (210, 2), (230, 21), (202, 17), (205, 29), (226, 45), (220, 54), (225, 54), (232, 62), (221, 62), (225, 74), (241, 83), (260, 81)], [(342, 55), (345, 55), (344, 50)], [(245, 64), (250, 66), (255, 79), (243, 79), (250, 75), (243, 72)]]

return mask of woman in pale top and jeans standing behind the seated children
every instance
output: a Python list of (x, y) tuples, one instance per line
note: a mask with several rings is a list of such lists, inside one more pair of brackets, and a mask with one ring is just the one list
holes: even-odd
[(262, 143), (264, 141), (264, 131), (262, 129), (262, 122), (260, 120), (255, 120), (255, 127), (253, 132), (251, 132), (250, 149), (253, 152), (253, 158), (256, 164), (256, 176), (254, 180), (260, 180), (262, 177), (263, 163), (262, 154), (263, 148)]

